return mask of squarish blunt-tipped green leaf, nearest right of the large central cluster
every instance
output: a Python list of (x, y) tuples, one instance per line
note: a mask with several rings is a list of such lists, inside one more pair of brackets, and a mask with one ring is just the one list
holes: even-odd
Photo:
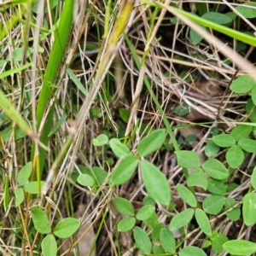
[(180, 150), (176, 154), (179, 166), (183, 168), (197, 168), (200, 166), (200, 158), (197, 153), (189, 150)]

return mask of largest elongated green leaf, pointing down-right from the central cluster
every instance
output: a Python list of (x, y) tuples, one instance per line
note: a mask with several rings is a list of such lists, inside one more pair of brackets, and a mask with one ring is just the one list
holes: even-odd
[(166, 176), (148, 160), (142, 160), (140, 165), (143, 182), (148, 190), (148, 194), (155, 201), (159, 201), (160, 204), (167, 206), (171, 201), (171, 189)]

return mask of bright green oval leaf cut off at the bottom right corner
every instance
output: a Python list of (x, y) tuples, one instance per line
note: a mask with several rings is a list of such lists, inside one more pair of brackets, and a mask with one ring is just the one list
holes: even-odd
[(247, 255), (256, 251), (256, 243), (246, 240), (230, 240), (223, 245), (224, 250), (233, 255)]

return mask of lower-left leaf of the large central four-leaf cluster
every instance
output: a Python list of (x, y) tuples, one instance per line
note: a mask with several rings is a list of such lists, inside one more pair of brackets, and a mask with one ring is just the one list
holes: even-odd
[(136, 171), (137, 165), (137, 157), (134, 155), (125, 156), (125, 158), (120, 160), (118, 164), (113, 168), (113, 172), (110, 177), (110, 183), (113, 183), (114, 185), (125, 183)]

